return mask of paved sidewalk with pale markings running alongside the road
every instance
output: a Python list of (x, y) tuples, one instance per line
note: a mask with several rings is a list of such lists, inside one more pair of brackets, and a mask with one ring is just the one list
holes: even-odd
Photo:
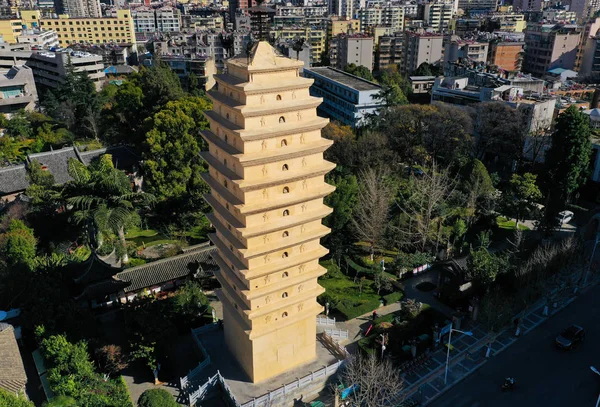
[[(600, 276), (593, 276), (588, 286), (582, 291), (586, 291), (598, 282), (600, 282)], [(543, 315), (545, 301), (540, 300), (522, 318), (520, 336), (527, 335), (548, 318), (551, 318), (567, 305), (571, 304), (575, 299), (577, 299), (577, 295), (563, 298), (556, 308), (549, 309), (548, 316)], [(487, 333), (477, 326), (473, 327), (471, 331), (474, 337), (479, 338), (472, 339), (471, 344), (469, 344), (469, 339), (471, 338), (468, 336), (457, 335), (455, 340), (454, 334), (452, 335), (452, 345), (457, 348), (458, 352), (454, 355), (451, 353), (447, 384), (444, 384), (446, 362), (446, 348), (444, 348), (436, 350), (432, 354), (432, 359), (435, 361), (433, 364), (417, 369), (415, 372), (404, 377), (407, 383), (404, 390), (407, 398), (411, 398), (421, 403), (421, 405), (426, 406), (488, 361), (485, 358), (488, 343)], [(514, 336), (514, 333), (515, 329), (512, 326), (502, 331), (492, 344), (490, 357), (494, 357), (516, 342), (518, 338)], [(457, 345), (457, 343), (462, 343), (463, 345)], [(465, 343), (467, 346), (464, 345)]]

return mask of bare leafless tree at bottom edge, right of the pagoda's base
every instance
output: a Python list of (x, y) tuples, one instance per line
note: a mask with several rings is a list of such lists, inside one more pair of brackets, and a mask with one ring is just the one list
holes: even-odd
[(402, 402), (403, 381), (389, 360), (379, 361), (375, 355), (353, 355), (341, 373), (342, 382), (355, 386), (352, 405), (383, 407)]

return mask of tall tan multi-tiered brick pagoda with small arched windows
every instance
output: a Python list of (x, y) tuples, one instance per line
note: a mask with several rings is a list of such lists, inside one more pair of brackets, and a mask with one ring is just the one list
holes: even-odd
[(321, 137), (328, 120), (317, 116), (321, 100), (310, 96), (313, 81), (299, 76), (301, 61), (261, 41), (226, 64), (208, 92), (203, 179), (225, 342), (256, 383), (317, 356), (316, 299), (325, 291), (317, 278), (327, 254), (319, 239), (332, 212), (323, 198), (334, 190), (325, 174), (335, 165), (323, 159), (332, 144)]

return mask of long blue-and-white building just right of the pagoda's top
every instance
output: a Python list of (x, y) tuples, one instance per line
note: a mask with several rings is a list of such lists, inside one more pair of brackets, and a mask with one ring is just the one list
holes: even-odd
[(359, 127), (384, 106), (378, 98), (381, 86), (339, 69), (313, 67), (304, 69), (304, 76), (314, 79), (311, 95), (323, 98), (319, 113), (333, 120)]

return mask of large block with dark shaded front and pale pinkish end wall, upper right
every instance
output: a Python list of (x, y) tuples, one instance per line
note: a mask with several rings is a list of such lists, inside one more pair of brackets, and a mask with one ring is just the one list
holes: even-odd
[(543, 77), (550, 69), (575, 68), (581, 34), (573, 24), (527, 24), (523, 70)]

